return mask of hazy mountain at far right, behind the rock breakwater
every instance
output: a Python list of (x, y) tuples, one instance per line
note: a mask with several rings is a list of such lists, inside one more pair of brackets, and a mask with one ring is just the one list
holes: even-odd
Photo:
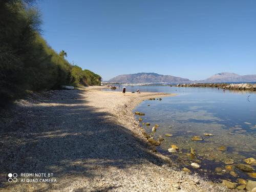
[(204, 82), (256, 82), (256, 75), (238, 75), (236, 73), (217, 73)]

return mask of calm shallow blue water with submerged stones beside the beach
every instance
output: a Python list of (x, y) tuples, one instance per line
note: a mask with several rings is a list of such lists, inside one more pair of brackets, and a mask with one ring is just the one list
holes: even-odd
[[(187, 167), (192, 172), (207, 175), (213, 179), (237, 178), (256, 180), (247, 172), (234, 168), (237, 163), (245, 163), (245, 158), (256, 159), (256, 94), (247, 91), (223, 91), (216, 88), (178, 88), (169, 86), (138, 86), (126, 87), (127, 91), (148, 91), (177, 93), (177, 96), (164, 97), (159, 100), (146, 100), (134, 111), (145, 113), (140, 125), (155, 139), (164, 137), (157, 150), (169, 155), (181, 168)], [(116, 90), (116, 91), (121, 91)], [(250, 95), (250, 96), (249, 96)], [(248, 97), (249, 96), (249, 97)], [(148, 106), (148, 104), (150, 106)], [(145, 126), (142, 122), (149, 122)], [(155, 133), (152, 127), (158, 124)], [(172, 137), (164, 136), (166, 133)], [(210, 133), (214, 136), (204, 136)], [(193, 136), (201, 136), (203, 141), (193, 141)], [(179, 147), (177, 153), (169, 153), (170, 145)], [(218, 150), (219, 146), (227, 147), (226, 151)], [(196, 156), (191, 157), (190, 147), (196, 150)], [(233, 160), (231, 168), (237, 176), (232, 176), (225, 169), (228, 159)], [(201, 165), (193, 169), (191, 162)], [(256, 169), (256, 164), (252, 166)], [(224, 171), (217, 172), (221, 167)], [(254, 171), (255, 172), (255, 171)]]

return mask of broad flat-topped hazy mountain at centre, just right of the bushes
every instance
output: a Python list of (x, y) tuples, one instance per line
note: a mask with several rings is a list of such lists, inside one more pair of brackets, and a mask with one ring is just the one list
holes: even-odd
[(118, 75), (109, 80), (109, 82), (120, 82), (120, 83), (189, 83), (189, 79), (175, 77), (172, 75), (159, 75), (157, 73), (136, 73), (127, 75)]

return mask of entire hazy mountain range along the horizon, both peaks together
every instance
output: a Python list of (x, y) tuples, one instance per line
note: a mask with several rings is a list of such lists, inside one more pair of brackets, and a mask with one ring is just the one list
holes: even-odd
[(256, 75), (238, 75), (236, 73), (217, 73), (205, 80), (192, 81), (187, 78), (157, 73), (136, 73), (118, 75), (108, 82), (119, 83), (191, 83), (191, 82), (256, 82)]

